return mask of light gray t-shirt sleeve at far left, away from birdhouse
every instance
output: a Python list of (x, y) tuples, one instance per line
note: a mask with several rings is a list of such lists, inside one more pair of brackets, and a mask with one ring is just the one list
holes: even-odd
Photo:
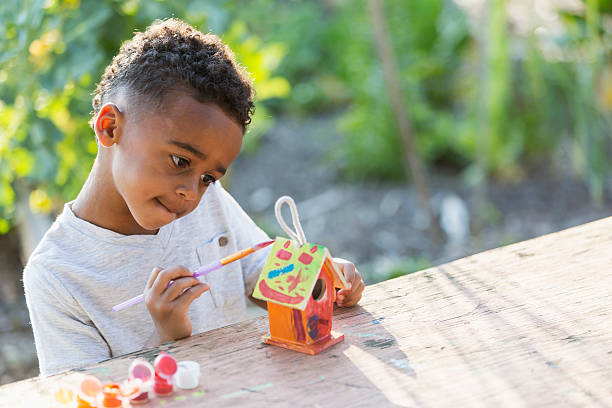
[(100, 332), (51, 271), (29, 263), (23, 283), (41, 375), (111, 357)]

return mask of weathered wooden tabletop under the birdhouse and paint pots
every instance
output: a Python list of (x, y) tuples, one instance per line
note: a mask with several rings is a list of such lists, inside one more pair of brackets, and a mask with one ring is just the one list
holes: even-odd
[[(368, 286), (317, 356), (261, 344), (266, 317), (161, 346), (202, 365), (201, 387), (146, 406), (612, 406), (611, 290), (607, 218)], [(84, 372), (122, 381), (159, 349)], [(0, 406), (76, 375), (5, 385)]]

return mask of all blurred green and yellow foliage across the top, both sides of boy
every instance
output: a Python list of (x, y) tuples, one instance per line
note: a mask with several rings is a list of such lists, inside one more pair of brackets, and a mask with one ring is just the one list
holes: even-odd
[[(481, 183), (571, 158), (602, 200), (612, 112), (610, 2), (560, 13), (555, 32), (486, 19), (453, 0), (383, 2), (419, 154)], [(0, 232), (16, 180), (33, 207), (72, 199), (96, 154), (91, 92), (122, 41), (176, 16), (230, 44), (254, 78), (254, 151), (275, 114), (340, 113), (331, 149), (348, 179), (403, 179), (403, 153), (365, 0), (6, 0), (0, 4)], [(484, 22), (484, 23), (482, 23)], [(44, 196), (46, 194), (46, 197)], [(37, 207), (37, 208), (38, 208)]]

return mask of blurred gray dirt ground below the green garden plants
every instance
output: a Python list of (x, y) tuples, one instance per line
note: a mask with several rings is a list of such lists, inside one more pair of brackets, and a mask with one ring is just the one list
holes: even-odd
[[(595, 206), (581, 182), (538, 172), (520, 184), (490, 184), (475, 217), (473, 192), (460, 177), (433, 169), (432, 201), (446, 226), (446, 242), (436, 247), (409, 185), (339, 180), (327, 156), (339, 137), (333, 118), (278, 120), (255, 154), (238, 158), (226, 185), (272, 236), (286, 235), (274, 202), (293, 197), (308, 241), (354, 261), (366, 283), (612, 215), (612, 200)], [(18, 249), (14, 235), (0, 236), (0, 384), (38, 373)]]

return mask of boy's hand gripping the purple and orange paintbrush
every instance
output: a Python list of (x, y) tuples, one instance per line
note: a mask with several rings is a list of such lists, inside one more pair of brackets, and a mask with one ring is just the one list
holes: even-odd
[[(144, 299), (153, 318), (160, 342), (191, 335), (189, 305), (210, 289), (210, 285), (194, 278), (183, 266), (154, 268), (144, 291)], [(174, 281), (170, 287), (168, 283)]]

